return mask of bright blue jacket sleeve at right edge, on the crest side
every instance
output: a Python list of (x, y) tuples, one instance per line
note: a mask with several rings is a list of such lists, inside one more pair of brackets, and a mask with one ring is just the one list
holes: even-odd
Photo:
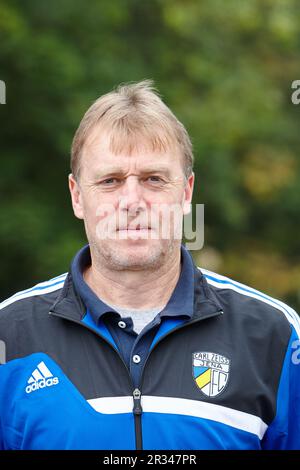
[(300, 449), (300, 340), (296, 329), (291, 328), (277, 392), (276, 415), (263, 438), (263, 449)]

